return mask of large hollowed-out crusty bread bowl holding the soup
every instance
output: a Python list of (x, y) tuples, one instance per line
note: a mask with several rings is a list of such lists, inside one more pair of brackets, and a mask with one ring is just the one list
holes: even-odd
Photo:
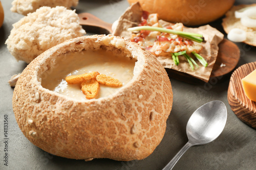
[[(111, 95), (92, 100), (69, 98), (42, 87), (42, 76), (72, 52), (104, 50), (135, 59), (134, 76)], [(22, 72), (13, 93), (19, 128), (51, 154), (92, 160), (143, 159), (160, 143), (172, 109), (173, 93), (165, 69), (144, 48), (115, 36), (83, 36), (52, 47)]]

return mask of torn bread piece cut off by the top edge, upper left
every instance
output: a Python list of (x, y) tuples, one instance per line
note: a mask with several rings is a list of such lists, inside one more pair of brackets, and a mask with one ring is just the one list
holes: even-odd
[(75, 7), (78, 4), (78, 0), (14, 0), (12, 2), (12, 12), (27, 15), (28, 13), (35, 12), (36, 9), (47, 7)]

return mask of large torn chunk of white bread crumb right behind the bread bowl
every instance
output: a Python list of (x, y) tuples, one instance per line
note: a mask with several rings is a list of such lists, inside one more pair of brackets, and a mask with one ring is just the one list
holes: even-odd
[(6, 44), (17, 60), (30, 63), (52, 46), (85, 33), (75, 10), (41, 7), (14, 23)]

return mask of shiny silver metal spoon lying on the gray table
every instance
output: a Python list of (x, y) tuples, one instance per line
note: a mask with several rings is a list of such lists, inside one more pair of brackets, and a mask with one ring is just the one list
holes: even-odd
[(188, 142), (163, 170), (172, 169), (190, 147), (215, 140), (223, 131), (226, 120), (227, 108), (221, 101), (212, 101), (198, 108), (187, 122)]

